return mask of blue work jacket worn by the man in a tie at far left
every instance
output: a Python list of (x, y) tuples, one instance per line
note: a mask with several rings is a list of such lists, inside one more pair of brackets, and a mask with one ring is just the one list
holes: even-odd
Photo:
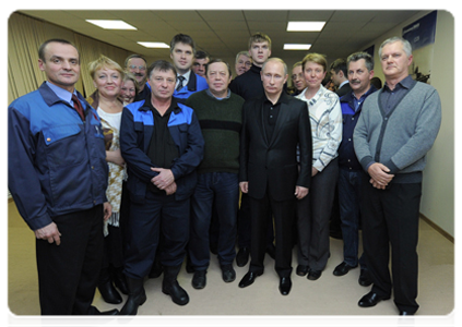
[(106, 202), (108, 166), (100, 120), (78, 93), (85, 122), (44, 83), (5, 113), (7, 184), (32, 230), (52, 217)]

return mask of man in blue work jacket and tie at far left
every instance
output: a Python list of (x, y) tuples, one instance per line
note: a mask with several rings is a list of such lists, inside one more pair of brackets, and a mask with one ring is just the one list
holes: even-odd
[(102, 124), (74, 88), (78, 49), (50, 39), (38, 58), (47, 81), (7, 108), (7, 184), (37, 239), (42, 326), (100, 326), (119, 313), (92, 306), (111, 214)]

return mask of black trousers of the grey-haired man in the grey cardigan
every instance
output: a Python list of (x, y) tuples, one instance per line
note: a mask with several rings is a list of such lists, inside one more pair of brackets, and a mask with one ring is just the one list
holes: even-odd
[[(415, 313), (417, 298), (417, 241), (422, 183), (391, 183), (375, 189), (363, 181), (363, 242), (374, 282), (372, 291), (390, 296), (400, 311)], [(391, 246), (390, 246), (391, 245)], [(389, 259), (391, 250), (391, 274)], [(393, 282), (391, 281), (393, 280)]]

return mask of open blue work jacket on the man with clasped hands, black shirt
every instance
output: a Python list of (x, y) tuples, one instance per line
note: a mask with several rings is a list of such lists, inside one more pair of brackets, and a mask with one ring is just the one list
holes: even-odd
[[(120, 149), (129, 174), (127, 187), (131, 201), (137, 203), (144, 203), (147, 184), (158, 174), (151, 170), (151, 167), (157, 166), (147, 156), (155, 126), (153, 112), (145, 101), (123, 108), (120, 124)], [(196, 168), (203, 159), (204, 140), (194, 111), (182, 104), (176, 104), (167, 126), (180, 155), (171, 167), (158, 168), (171, 170), (177, 183), (175, 198), (181, 201), (194, 191), (198, 181)]]

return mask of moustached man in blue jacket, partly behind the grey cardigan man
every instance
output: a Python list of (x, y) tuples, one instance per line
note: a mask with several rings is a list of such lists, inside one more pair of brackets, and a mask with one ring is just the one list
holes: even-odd
[(344, 276), (360, 265), (359, 284), (370, 286), (365, 256), (358, 261), (359, 190), (364, 171), (353, 147), (355, 130), (364, 100), (377, 88), (370, 85), (374, 76), (374, 59), (366, 52), (351, 55), (347, 75), (353, 92), (340, 99), (343, 116), (342, 143), (339, 146), (339, 204), (343, 234), (343, 262), (335, 267), (334, 276)]

